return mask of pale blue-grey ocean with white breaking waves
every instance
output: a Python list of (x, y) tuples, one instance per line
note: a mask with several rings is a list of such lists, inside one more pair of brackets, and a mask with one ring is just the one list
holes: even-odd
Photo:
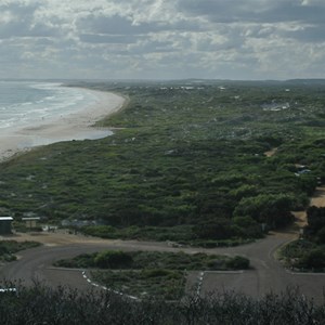
[(95, 102), (93, 93), (61, 83), (0, 81), (0, 129), (47, 122)]

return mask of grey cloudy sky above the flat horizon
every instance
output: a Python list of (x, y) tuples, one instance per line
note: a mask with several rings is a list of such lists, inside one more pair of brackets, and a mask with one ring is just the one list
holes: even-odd
[(0, 78), (325, 78), (325, 0), (0, 0)]

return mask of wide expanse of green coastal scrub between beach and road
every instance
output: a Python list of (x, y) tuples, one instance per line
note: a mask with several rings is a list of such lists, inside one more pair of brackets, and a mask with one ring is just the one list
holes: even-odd
[(0, 204), (15, 219), (96, 221), (104, 227), (86, 232), (106, 237), (122, 229), (126, 237), (240, 242), (262, 236), (262, 224), (290, 223), (325, 180), (322, 83), (86, 86), (129, 96), (98, 123), (115, 134), (2, 164)]

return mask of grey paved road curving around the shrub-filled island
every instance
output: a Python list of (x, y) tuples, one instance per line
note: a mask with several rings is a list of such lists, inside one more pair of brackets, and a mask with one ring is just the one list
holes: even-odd
[[(236, 290), (252, 297), (262, 297), (268, 292), (281, 292), (288, 286), (299, 287), (301, 294), (313, 298), (316, 302), (324, 302), (323, 290), (325, 288), (324, 274), (294, 274), (274, 259), (276, 249), (290, 239), (290, 236), (270, 235), (258, 243), (252, 243), (233, 248), (173, 248), (167, 243), (122, 242), (122, 240), (96, 240), (84, 238), (79, 243), (67, 244), (66, 240), (57, 246), (41, 246), (21, 252), (20, 259), (0, 268), (0, 280), (23, 280), (25, 284), (32, 284), (35, 280), (48, 285), (68, 285), (78, 289), (88, 289), (89, 283), (83, 278), (81, 271), (55, 269), (52, 263), (62, 258), (69, 258), (82, 252), (94, 252), (103, 249), (122, 250), (160, 250), (185, 252), (208, 252), (242, 255), (250, 259), (251, 270), (242, 273), (210, 273), (204, 274), (202, 295), (213, 290)], [(197, 285), (196, 276), (191, 276), (192, 284)]]

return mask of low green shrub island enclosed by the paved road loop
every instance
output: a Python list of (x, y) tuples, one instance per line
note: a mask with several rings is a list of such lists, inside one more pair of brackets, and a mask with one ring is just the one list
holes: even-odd
[(100, 269), (91, 272), (92, 278), (109, 289), (135, 297), (176, 300), (184, 295), (187, 271), (245, 270), (249, 260), (239, 256), (104, 250), (58, 260), (55, 265)]

